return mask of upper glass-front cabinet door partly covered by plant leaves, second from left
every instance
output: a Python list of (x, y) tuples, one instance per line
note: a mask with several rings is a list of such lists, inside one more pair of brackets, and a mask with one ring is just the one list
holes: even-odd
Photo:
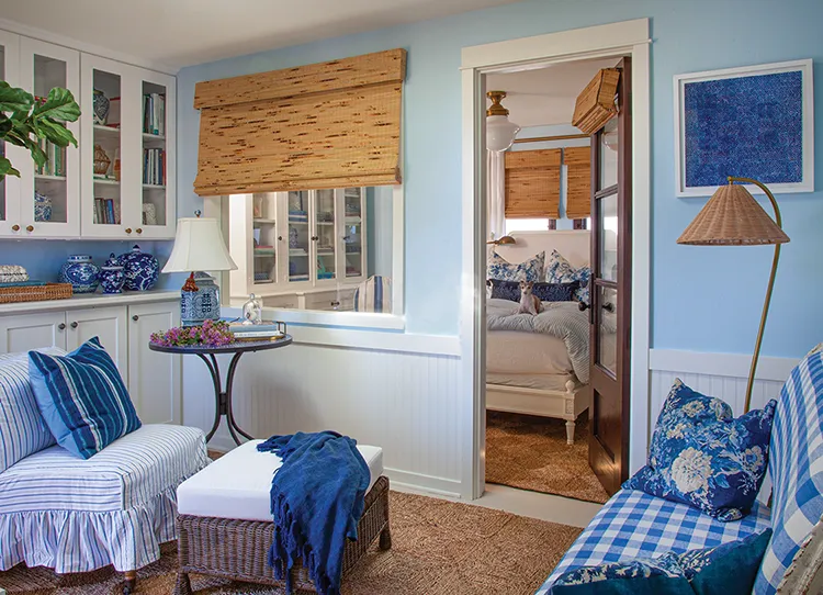
[[(35, 101), (63, 87), (80, 98), (80, 54), (29, 37), (20, 38), (20, 86)], [(78, 122), (65, 124), (80, 141)], [(20, 224), (22, 237), (75, 237), (80, 234), (80, 155), (42, 141), (48, 162), (36, 167), (30, 159), (15, 164), (21, 173)]]

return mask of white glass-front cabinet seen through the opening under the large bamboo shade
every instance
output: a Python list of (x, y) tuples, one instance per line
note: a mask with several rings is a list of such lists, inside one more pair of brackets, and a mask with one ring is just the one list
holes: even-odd
[[(365, 215), (364, 188), (232, 197), (229, 251), (238, 266), (232, 295), (327, 294), (357, 285), (367, 273)], [(317, 303), (327, 310), (339, 301), (324, 295)]]

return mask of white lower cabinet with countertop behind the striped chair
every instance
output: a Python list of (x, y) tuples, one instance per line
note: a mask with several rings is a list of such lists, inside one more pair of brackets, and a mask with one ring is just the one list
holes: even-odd
[(180, 324), (180, 302), (0, 315), (0, 353), (59, 347), (72, 350), (92, 337), (117, 364), (144, 424), (182, 422), (181, 356), (148, 348), (151, 333)]

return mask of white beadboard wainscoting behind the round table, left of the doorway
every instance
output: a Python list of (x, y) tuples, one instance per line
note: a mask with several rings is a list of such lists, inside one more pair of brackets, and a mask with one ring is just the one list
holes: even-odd
[[(241, 357), (233, 393), (240, 427), (258, 438), (334, 429), (382, 447), (394, 484), (454, 497), (464, 494), (460, 358), (452, 355), (456, 337), (384, 336), (375, 349), (318, 345), (318, 332), (290, 328), (294, 345)], [(427, 345), (439, 352), (420, 352)], [(218, 359), (225, 378), (230, 357)], [(185, 356), (184, 423), (208, 430), (213, 416), (208, 371), (199, 358)], [(210, 447), (234, 447), (225, 423)]]

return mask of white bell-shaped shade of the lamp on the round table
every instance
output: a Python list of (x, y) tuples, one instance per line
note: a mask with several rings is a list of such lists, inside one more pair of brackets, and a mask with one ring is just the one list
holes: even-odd
[(174, 248), (162, 272), (233, 270), (237, 265), (226, 249), (216, 218), (178, 220)]

